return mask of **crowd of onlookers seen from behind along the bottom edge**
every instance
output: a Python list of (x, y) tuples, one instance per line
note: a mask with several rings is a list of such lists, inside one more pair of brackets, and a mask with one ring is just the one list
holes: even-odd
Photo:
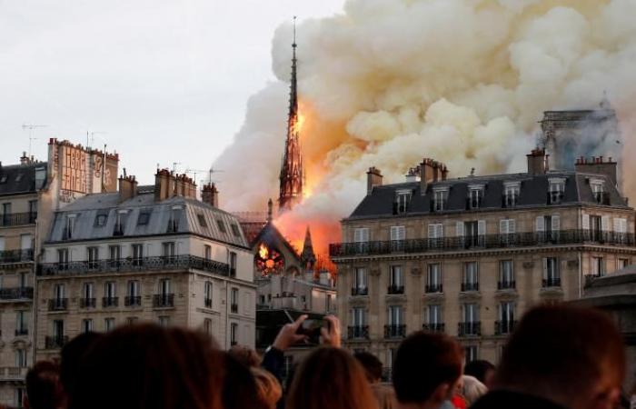
[[(263, 357), (208, 335), (155, 324), (82, 334), (59, 362), (26, 376), (27, 409), (613, 409), (622, 392), (625, 351), (607, 315), (568, 305), (526, 313), (497, 367), (464, 367), (461, 345), (445, 334), (406, 337), (392, 383), (373, 354), (341, 346), (340, 322), (326, 317), (322, 345), (283, 384), (284, 352), (303, 343), (303, 320), (283, 326)], [(622, 399), (621, 399), (622, 398)], [(627, 405), (627, 406), (625, 406)]]

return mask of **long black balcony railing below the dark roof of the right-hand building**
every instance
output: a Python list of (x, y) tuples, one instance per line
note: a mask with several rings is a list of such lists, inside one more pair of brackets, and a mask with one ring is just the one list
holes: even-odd
[(605, 244), (634, 246), (634, 234), (595, 231), (589, 229), (523, 232), (512, 234), (482, 234), (434, 239), (389, 240), (364, 243), (334, 243), (329, 245), (332, 257), (376, 254), (412, 254), (466, 249), (497, 249), (555, 244)]

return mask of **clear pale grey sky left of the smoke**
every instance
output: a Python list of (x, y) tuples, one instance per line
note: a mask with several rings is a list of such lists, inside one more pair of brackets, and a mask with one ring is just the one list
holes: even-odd
[[(35, 130), (108, 145), (152, 182), (156, 164), (205, 169), (243, 123), (247, 98), (273, 81), (276, 26), (333, 15), (343, 0), (0, 0), (0, 161)], [(285, 112), (281, 112), (283, 116)], [(104, 132), (105, 134), (99, 134)], [(197, 175), (197, 179), (200, 177)]]

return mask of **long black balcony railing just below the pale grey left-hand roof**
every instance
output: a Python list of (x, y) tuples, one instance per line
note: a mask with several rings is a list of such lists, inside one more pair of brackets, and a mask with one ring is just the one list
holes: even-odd
[(229, 265), (194, 255), (125, 258), (117, 261), (98, 260), (38, 265), (38, 275), (75, 275), (101, 273), (127, 273), (136, 271), (164, 271), (195, 269), (209, 273), (229, 275)]

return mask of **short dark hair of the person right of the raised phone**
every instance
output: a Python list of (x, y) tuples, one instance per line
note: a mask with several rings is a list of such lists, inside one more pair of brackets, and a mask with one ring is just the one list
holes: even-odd
[(393, 363), (393, 387), (398, 401), (428, 401), (441, 384), (452, 386), (462, 374), (460, 344), (445, 334), (418, 331), (400, 344)]

